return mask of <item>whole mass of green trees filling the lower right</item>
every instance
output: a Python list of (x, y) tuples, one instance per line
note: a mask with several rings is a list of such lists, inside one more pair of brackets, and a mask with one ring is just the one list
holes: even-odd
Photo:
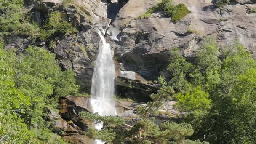
[(185, 112), (182, 121), (195, 130), (190, 139), (255, 143), (256, 61), (251, 53), (239, 43), (219, 51), (215, 37), (209, 36), (200, 43), (195, 56), (193, 66), (174, 48), (167, 67), (172, 77), (168, 83), (159, 78), (161, 88), (169, 85), (178, 93), (172, 95), (177, 100), (175, 107)]

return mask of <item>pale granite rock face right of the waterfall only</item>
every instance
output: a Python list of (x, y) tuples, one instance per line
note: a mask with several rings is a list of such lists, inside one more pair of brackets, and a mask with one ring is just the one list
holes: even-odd
[[(180, 48), (184, 57), (193, 61), (198, 43), (207, 35), (215, 36), (220, 48), (237, 40), (256, 57), (256, 13), (246, 13), (249, 7), (256, 7), (255, 0), (236, 0), (224, 8), (216, 8), (213, 0), (174, 2), (184, 3), (191, 11), (175, 24), (162, 12), (153, 13), (147, 19), (135, 19), (156, 5), (155, 0), (141, 0), (139, 3), (144, 5), (140, 6), (129, 0), (117, 13), (115, 21), (109, 26), (107, 36), (115, 47), (115, 58), (119, 62), (117, 66), (121, 67), (123, 73), (135, 72), (139, 75), (139, 81), (141, 77), (143, 81), (157, 80), (159, 75), (170, 77), (166, 70), (169, 48)], [(189, 29), (197, 31), (198, 34), (188, 33)], [(133, 80), (130, 75), (119, 75), (118, 78)], [(117, 82), (117, 85), (124, 85), (120, 80)], [(125, 88), (120, 88), (120, 91), (125, 91)], [(126, 91), (133, 90), (127, 88)], [(126, 95), (136, 93), (141, 95), (138, 92)]]

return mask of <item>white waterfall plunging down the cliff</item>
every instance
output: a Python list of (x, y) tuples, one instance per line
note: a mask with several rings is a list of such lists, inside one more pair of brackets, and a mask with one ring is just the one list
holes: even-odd
[[(99, 115), (117, 115), (115, 110), (114, 96), (114, 79), (115, 64), (111, 53), (109, 43), (106, 43), (103, 34), (98, 32), (101, 37), (102, 47), (96, 61), (96, 67), (93, 73), (91, 87), (91, 106), (93, 113)], [(96, 123), (95, 128), (101, 130), (103, 123)], [(101, 140), (96, 140), (95, 144), (104, 144)]]

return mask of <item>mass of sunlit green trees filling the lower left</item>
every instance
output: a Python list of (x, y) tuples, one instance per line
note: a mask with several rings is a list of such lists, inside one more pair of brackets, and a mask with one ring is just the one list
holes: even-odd
[(61, 71), (55, 54), (42, 48), (15, 55), (0, 43), (0, 136), (5, 142), (66, 143), (51, 133), (48, 112), (58, 96), (77, 92), (75, 73)]

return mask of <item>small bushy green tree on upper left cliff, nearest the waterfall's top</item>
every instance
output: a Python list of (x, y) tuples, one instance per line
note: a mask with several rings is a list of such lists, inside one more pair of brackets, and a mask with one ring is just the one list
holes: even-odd
[(53, 35), (72, 35), (77, 32), (72, 24), (64, 21), (62, 13), (56, 11), (51, 13), (48, 24), (43, 26), (41, 38), (47, 40)]

